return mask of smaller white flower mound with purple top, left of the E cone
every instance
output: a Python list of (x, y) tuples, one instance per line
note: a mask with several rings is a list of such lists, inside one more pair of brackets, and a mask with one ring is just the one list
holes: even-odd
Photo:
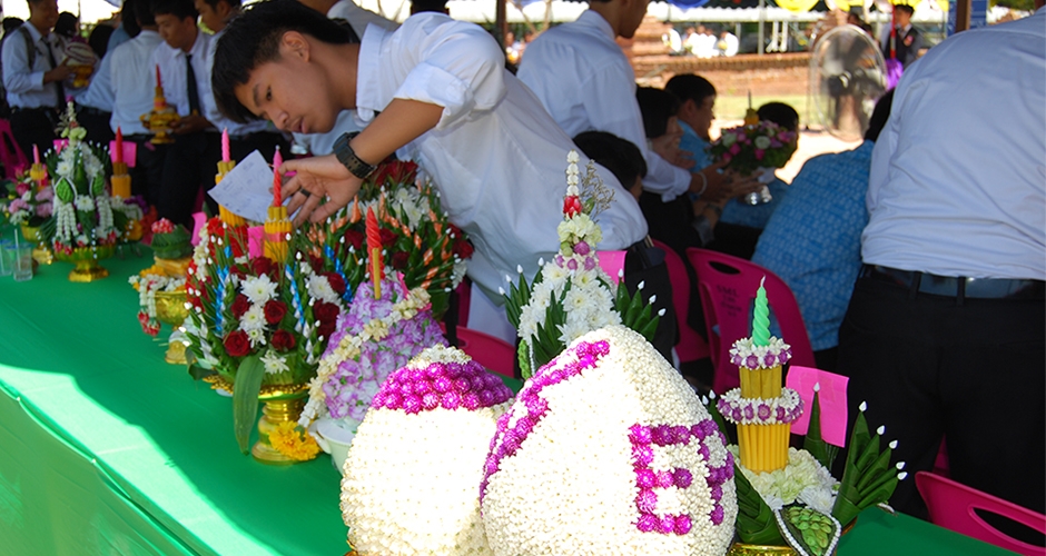
[(494, 554), (476, 485), (510, 397), (456, 348), (426, 348), (389, 375), (345, 461), (342, 516), (353, 547), (383, 556)]

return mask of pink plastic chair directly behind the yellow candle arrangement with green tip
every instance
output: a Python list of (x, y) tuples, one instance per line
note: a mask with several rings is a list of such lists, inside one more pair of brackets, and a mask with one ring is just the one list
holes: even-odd
[(763, 277), (770, 311), (781, 327), (782, 339), (792, 348), (791, 363), (817, 367), (799, 304), (784, 280), (759, 265), (708, 249), (687, 249), (687, 257), (698, 272), (698, 291), (716, 367), (712, 389), (726, 393), (741, 385), (738, 367), (730, 363), (730, 347), (751, 336), (752, 300)]

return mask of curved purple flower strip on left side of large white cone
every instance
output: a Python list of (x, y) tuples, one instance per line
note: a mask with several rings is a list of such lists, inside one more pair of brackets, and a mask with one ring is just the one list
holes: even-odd
[[(480, 502), (486, 495), (486, 485), (492, 475), (500, 469), (501, 460), (512, 457), (523, 445), (523, 440), (530, 436), (534, 427), (541, 423), (541, 419), (549, 413), (549, 403), (541, 397), (541, 391), (550, 386), (569, 380), (582, 371), (595, 367), (595, 364), (610, 353), (610, 344), (606, 340), (600, 340), (594, 344), (581, 341), (571, 349), (568, 349), (547, 365), (537, 369), (537, 373), (531, 377), (530, 381), (523, 386), (520, 391), (519, 401), (526, 407), (526, 415), (516, 420), (515, 425), (509, 427), (509, 421), (515, 415), (514, 410), (506, 411), (497, 419), (497, 433), (491, 439), (491, 450), (486, 456), (486, 463), (483, 464), (483, 483), (480, 485)], [(560, 365), (561, 360), (573, 359), (566, 365)]]

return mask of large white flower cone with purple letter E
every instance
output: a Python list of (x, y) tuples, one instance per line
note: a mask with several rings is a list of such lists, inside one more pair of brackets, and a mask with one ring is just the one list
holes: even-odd
[(542, 367), (497, 423), (481, 505), (499, 556), (721, 555), (733, 456), (642, 336), (610, 326)]

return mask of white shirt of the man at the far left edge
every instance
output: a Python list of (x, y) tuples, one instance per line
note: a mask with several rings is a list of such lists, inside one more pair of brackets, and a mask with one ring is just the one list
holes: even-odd
[[(53, 69), (48, 58), (48, 47), (55, 56), (55, 62), (61, 63), (66, 51), (66, 40), (57, 33), (47, 37), (30, 23), (22, 23), (21, 28), (29, 31), (32, 44), (37, 50), (36, 60), (29, 67), (29, 52), (26, 49), (26, 39), (22, 32), (13, 29), (10, 37), (3, 41), (0, 60), (3, 63), (3, 88), (8, 93), (8, 105), (17, 108), (56, 107), (65, 108), (65, 100), (58, 101), (58, 85), (53, 81), (43, 83), (43, 73)], [(66, 95), (71, 88), (66, 83)]]

